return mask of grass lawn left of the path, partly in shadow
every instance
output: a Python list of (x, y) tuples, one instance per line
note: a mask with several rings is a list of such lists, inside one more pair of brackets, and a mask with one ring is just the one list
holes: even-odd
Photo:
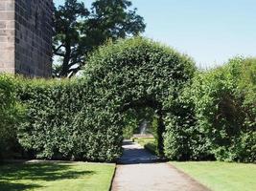
[(114, 168), (87, 162), (0, 164), (0, 190), (108, 191)]

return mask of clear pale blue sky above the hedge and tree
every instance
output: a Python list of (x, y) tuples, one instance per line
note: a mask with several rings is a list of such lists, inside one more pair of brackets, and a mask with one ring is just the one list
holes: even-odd
[[(147, 24), (144, 36), (190, 55), (200, 68), (256, 56), (256, 0), (130, 1)], [(89, 9), (93, 0), (82, 2)]]

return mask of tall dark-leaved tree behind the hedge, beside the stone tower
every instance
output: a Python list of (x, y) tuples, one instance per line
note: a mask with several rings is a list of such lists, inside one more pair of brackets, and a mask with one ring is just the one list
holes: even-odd
[(72, 76), (86, 56), (107, 39), (116, 40), (144, 32), (144, 19), (129, 10), (128, 0), (96, 0), (90, 11), (78, 0), (66, 0), (55, 10), (54, 55), (59, 58), (54, 75)]

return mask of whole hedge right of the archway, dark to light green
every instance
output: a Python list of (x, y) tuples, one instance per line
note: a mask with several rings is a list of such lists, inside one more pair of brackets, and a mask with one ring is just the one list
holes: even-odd
[(172, 105), (169, 158), (256, 160), (255, 67), (255, 59), (234, 58), (194, 77)]

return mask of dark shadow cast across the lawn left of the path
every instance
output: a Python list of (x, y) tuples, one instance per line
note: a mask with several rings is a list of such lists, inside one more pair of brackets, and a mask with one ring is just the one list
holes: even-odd
[[(0, 165), (0, 190), (25, 190), (42, 187), (31, 183), (38, 180), (54, 181), (78, 179), (84, 175), (92, 175), (93, 171), (72, 169), (68, 163), (12, 163)], [(19, 183), (18, 180), (28, 181)]]

